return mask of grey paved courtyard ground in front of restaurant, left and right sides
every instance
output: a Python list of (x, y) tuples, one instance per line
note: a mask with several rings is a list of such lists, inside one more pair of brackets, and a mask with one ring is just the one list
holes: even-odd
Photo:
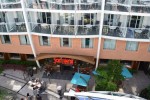
[[(5, 73), (5, 75), (3, 75)], [(10, 89), (14, 92), (18, 93), (18, 97), (25, 97), (27, 93), (33, 94), (32, 88), (27, 84), (27, 82), (24, 80), (24, 75), (22, 71), (14, 71), (14, 70), (5, 70), (0, 75), (0, 86), (5, 87), (7, 89)], [(61, 83), (66, 84), (70, 82), (70, 80), (59, 80), (59, 79), (48, 79), (48, 78), (42, 78), (43, 72), (39, 71), (38, 74), (35, 74), (34, 77), (39, 77), (40, 79), (46, 81), (47, 83)], [(94, 80), (92, 79), (89, 82), (90, 90), (92, 90)], [(122, 92), (138, 95), (140, 91), (147, 87), (150, 84), (150, 77), (146, 76), (144, 72), (138, 71), (138, 73), (133, 75), (133, 78), (126, 79), (123, 83)], [(48, 94), (44, 92), (43, 94), (43, 100), (59, 100), (58, 98), (52, 96), (51, 94)], [(20, 99), (18, 99), (20, 100)], [(63, 98), (63, 100), (67, 100), (66, 98)]]

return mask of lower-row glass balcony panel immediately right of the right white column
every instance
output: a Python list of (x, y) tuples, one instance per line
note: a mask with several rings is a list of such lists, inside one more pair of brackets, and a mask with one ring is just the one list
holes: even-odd
[(108, 26), (108, 25), (103, 26), (102, 35), (113, 37), (124, 37), (125, 34), (126, 34), (125, 27)]

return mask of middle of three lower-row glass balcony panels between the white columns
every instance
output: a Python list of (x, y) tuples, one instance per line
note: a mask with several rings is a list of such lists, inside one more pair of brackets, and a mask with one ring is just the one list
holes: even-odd
[(56, 25), (54, 33), (55, 35), (75, 35), (75, 29), (74, 26), (60, 26)]

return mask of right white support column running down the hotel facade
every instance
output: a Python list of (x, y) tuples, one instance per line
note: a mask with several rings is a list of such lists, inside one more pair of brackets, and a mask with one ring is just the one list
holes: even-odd
[(100, 20), (100, 27), (99, 27), (98, 48), (97, 48), (97, 57), (96, 57), (95, 70), (97, 70), (98, 63), (99, 63), (99, 55), (100, 55), (100, 49), (101, 49), (101, 36), (102, 36), (103, 20), (104, 20), (104, 8), (105, 8), (105, 0), (102, 0), (101, 20)]

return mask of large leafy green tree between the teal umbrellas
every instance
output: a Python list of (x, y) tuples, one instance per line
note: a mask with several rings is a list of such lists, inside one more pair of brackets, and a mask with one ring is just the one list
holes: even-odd
[(121, 75), (122, 64), (118, 60), (110, 60), (106, 68), (98, 68), (96, 76), (97, 91), (116, 91), (118, 83), (124, 79)]

